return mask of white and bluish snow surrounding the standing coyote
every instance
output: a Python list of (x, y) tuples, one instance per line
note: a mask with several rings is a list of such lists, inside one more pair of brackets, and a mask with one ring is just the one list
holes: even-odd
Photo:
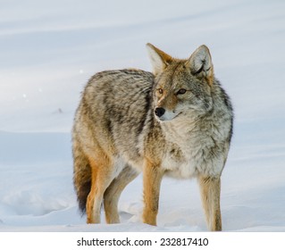
[(231, 96), (223, 229), (285, 230), (284, 1), (9, 0), (0, 17), (0, 231), (207, 230), (195, 179), (163, 179), (157, 227), (141, 222), (141, 175), (122, 194), (121, 224), (87, 225), (78, 211), (80, 91), (96, 71), (151, 71), (147, 42), (181, 58), (205, 44)]

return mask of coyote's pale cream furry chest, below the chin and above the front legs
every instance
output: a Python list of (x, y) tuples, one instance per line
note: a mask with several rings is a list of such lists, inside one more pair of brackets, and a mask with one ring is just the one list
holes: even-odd
[(219, 154), (213, 137), (198, 129), (165, 131), (167, 140), (162, 167), (174, 178), (188, 179), (197, 175), (219, 175), (223, 155)]

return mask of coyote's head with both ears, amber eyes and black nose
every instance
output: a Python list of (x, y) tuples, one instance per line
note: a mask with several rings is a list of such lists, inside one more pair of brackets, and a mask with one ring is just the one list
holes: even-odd
[(151, 44), (147, 49), (154, 68), (154, 110), (159, 121), (194, 119), (212, 110), (214, 69), (206, 46), (199, 46), (187, 60), (173, 58)]

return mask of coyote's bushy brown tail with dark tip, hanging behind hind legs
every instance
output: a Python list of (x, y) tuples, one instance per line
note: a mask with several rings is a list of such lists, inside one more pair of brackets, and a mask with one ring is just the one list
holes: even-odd
[(73, 145), (73, 184), (80, 212), (86, 212), (86, 203), (91, 188), (91, 168), (86, 156)]

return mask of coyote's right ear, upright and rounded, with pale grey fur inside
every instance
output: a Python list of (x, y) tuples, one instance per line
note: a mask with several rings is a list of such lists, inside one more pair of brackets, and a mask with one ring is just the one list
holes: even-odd
[(207, 46), (199, 46), (186, 62), (192, 74), (205, 78), (209, 85), (214, 79), (214, 67), (210, 51)]

